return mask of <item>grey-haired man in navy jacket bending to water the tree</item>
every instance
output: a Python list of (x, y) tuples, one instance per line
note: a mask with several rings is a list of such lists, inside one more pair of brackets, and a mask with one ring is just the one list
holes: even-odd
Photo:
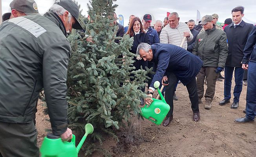
[[(148, 89), (148, 96), (152, 97), (155, 90), (154, 82), (162, 82), (166, 86), (165, 100), (170, 105), (170, 111), (163, 121), (163, 126), (168, 126), (173, 119), (173, 95), (177, 80), (181, 80), (187, 87), (191, 108), (193, 111), (193, 121), (200, 120), (198, 107), (198, 95), (196, 88), (196, 75), (200, 71), (203, 62), (201, 59), (187, 50), (172, 44), (139, 44), (137, 54), (145, 61), (155, 63), (155, 75)], [(167, 81), (168, 84), (164, 82)], [(150, 104), (152, 99), (146, 99), (146, 104)]]

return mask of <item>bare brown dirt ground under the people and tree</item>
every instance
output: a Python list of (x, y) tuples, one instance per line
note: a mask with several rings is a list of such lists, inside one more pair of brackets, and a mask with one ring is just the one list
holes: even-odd
[[(113, 157), (256, 157), (256, 122), (238, 124), (234, 119), (245, 115), (246, 89), (240, 97), (238, 109), (230, 109), (230, 104), (219, 106), (223, 99), (224, 81), (216, 83), (215, 98), (212, 109), (205, 110), (199, 104), (201, 120), (192, 121), (192, 110), (189, 105), (188, 92), (179, 84), (174, 101), (174, 120), (168, 127), (156, 126), (149, 120), (139, 120), (133, 130), (134, 142), (126, 144), (126, 132), (119, 131), (120, 142), (117, 144), (111, 137), (104, 141), (103, 148)], [(205, 87), (206, 88), (206, 87)], [(234, 80), (232, 89), (234, 89)], [(203, 101), (204, 103), (205, 101)], [(50, 128), (44, 107), (38, 105), (37, 129), (40, 146), (46, 129)], [(94, 153), (92, 157), (102, 157)]]

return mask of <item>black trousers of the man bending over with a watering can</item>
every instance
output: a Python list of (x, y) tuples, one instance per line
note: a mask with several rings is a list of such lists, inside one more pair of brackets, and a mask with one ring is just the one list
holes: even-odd
[[(174, 73), (170, 73), (167, 77), (168, 77), (167, 82), (169, 83), (169, 85), (166, 86), (165, 100), (166, 100), (167, 104), (170, 105), (170, 111), (167, 114), (167, 117), (170, 117), (173, 114), (173, 108), (174, 108), (173, 95), (174, 95), (175, 86), (176, 86), (178, 79)], [(199, 106), (198, 106), (198, 95), (197, 95), (197, 88), (196, 88), (196, 77), (194, 79), (192, 79), (187, 84), (186, 87), (188, 90), (192, 111), (193, 111), (193, 113), (197, 113), (197, 112), (199, 112)]]

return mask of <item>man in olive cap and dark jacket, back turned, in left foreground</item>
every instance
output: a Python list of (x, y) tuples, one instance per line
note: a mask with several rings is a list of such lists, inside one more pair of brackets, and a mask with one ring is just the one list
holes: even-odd
[(44, 88), (51, 128), (63, 141), (67, 128), (66, 80), (71, 53), (66, 34), (82, 29), (72, 0), (56, 0), (44, 15), (12, 18), (0, 26), (0, 157), (38, 157), (33, 123)]

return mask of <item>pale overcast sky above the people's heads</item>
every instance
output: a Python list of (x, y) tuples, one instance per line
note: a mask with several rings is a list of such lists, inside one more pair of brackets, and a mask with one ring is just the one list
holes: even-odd
[[(2, 0), (2, 13), (9, 12), (9, 4), (12, 0)], [(48, 11), (55, 0), (35, 0), (38, 5), (39, 13)], [(89, 0), (77, 0), (83, 9), (82, 14), (88, 15), (87, 3)], [(256, 22), (256, 1), (255, 0), (117, 0), (119, 6), (116, 9), (117, 15), (124, 16), (124, 26), (128, 25), (130, 15), (143, 17), (144, 14), (152, 15), (153, 20), (161, 20), (166, 17), (166, 12), (177, 12), (181, 22), (187, 22), (190, 19), (196, 20), (196, 10), (204, 15), (219, 15), (219, 22), (231, 18), (231, 10), (238, 5), (245, 7), (245, 17), (248, 20)]]

